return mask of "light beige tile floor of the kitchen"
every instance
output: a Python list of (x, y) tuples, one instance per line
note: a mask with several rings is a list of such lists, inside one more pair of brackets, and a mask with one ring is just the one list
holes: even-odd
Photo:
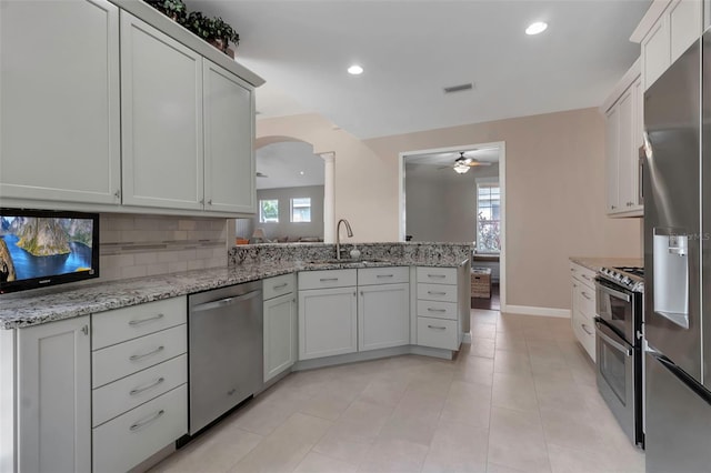
[(453, 361), (291, 374), (152, 472), (643, 472), (567, 319), (472, 310)]

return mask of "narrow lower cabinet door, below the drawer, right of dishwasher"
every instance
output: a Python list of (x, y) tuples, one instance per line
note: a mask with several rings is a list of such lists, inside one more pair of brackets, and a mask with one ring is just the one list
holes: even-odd
[(297, 341), (294, 294), (264, 301), (264, 382), (296, 363)]

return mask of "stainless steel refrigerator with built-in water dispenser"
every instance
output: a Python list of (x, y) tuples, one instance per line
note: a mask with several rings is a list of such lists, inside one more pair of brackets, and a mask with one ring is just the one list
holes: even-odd
[(711, 32), (644, 94), (648, 472), (711, 471)]

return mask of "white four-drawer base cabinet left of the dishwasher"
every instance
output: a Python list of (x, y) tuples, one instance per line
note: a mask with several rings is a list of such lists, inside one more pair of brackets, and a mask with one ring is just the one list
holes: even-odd
[(184, 296), (92, 315), (92, 466), (124, 472), (188, 433)]

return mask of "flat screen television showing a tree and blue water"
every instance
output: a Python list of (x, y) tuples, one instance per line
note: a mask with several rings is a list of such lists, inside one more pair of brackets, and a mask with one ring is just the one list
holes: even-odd
[(0, 294), (99, 278), (99, 214), (0, 209)]

